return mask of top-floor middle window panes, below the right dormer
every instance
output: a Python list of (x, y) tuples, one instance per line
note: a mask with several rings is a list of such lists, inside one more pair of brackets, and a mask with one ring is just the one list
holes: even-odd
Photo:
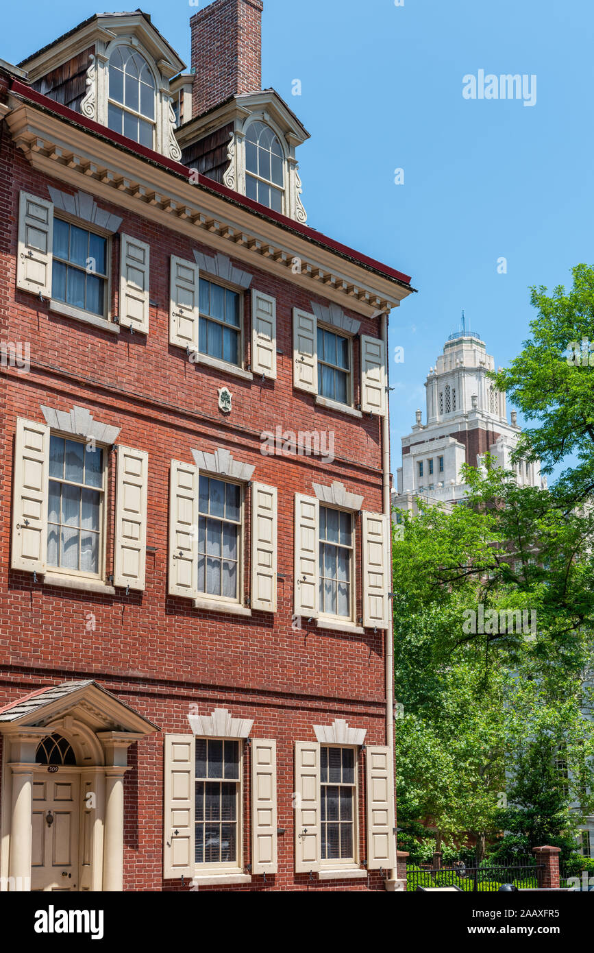
[(200, 337), (203, 355), (241, 366), (241, 295), (200, 279)]

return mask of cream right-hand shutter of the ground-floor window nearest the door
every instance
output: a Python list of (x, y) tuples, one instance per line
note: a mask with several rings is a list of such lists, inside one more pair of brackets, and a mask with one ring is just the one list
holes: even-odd
[(276, 741), (251, 740), (251, 870), (276, 874)]

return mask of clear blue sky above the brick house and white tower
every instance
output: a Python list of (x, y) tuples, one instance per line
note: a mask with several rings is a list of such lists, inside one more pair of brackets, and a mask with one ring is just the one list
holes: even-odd
[[(189, 16), (205, 6), (143, 9), (189, 63)], [(6, 5), (0, 55), (17, 62), (96, 11), (80, 0)], [(594, 4), (265, 0), (263, 40), (264, 85), (311, 132), (298, 153), (309, 224), (419, 289), (390, 321), (395, 469), (462, 310), (505, 366), (527, 335), (529, 286), (568, 284), (572, 265), (594, 260)], [(479, 70), (535, 74), (536, 105), (466, 100), (463, 77)]]

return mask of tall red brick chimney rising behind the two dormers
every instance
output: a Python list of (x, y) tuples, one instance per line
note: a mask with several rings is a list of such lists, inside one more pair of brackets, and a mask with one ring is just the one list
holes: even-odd
[(262, 87), (262, 0), (215, 0), (190, 18), (192, 116)]

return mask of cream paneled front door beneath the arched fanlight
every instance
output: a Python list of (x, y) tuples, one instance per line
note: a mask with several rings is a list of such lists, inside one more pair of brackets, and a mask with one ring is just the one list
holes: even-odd
[(64, 767), (33, 775), (31, 890), (78, 890), (79, 787)]

